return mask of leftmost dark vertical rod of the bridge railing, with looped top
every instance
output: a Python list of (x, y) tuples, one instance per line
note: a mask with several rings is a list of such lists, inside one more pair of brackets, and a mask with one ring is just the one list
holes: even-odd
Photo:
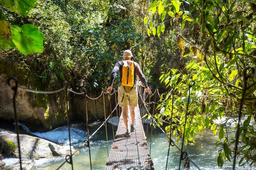
[(21, 153), (20, 153), (20, 137), (19, 137), (19, 121), (17, 119), (17, 111), (16, 111), (16, 96), (17, 96), (17, 88), (18, 88), (18, 80), (16, 77), (11, 77), (8, 79), (8, 85), (11, 86), (11, 80), (15, 81), (15, 86), (12, 86), (13, 94), (13, 110), (14, 110), (14, 120), (15, 120), (15, 131), (17, 134), (17, 143), (18, 143), (18, 151), (19, 151), (19, 159), (20, 159), (20, 170), (22, 170), (22, 162), (21, 162)]

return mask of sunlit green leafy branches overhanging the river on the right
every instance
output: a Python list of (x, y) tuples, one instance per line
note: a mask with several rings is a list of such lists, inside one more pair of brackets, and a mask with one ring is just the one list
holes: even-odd
[[(161, 37), (168, 24), (179, 27), (177, 48), (180, 57), (190, 60), (185, 72), (170, 69), (160, 77), (166, 88), (172, 84), (176, 87), (167, 95), (161, 95), (162, 103), (158, 105), (161, 111), (155, 118), (159, 125), (163, 124), (162, 119), (172, 120), (172, 127), (166, 127), (166, 131), (174, 135), (177, 143), (184, 135), (185, 145), (194, 145), (209, 131), (213, 135), (218, 133), (217, 162), (222, 167), (224, 161), (234, 158), (234, 133), (238, 129), (239, 102), (246, 81), (241, 76), (254, 73), (256, 65), (256, 3), (250, 0), (154, 0), (148, 11), (160, 20), (154, 23), (152, 16), (144, 18), (148, 35)], [(190, 88), (189, 83), (193, 85)], [(250, 77), (246, 83), (238, 155), (239, 165), (249, 162), (254, 166), (256, 131), (250, 122), (256, 120), (256, 78)], [(234, 127), (230, 129), (232, 124)]]

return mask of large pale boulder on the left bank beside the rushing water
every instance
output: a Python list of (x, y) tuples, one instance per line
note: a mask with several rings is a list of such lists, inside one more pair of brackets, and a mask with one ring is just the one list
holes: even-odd
[[(21, 158), (39, 159), (70, 154), (70, 146), (61, 146), (29, 135), (20, 134), (19, 137)], [(16, 133), (0, 129), (0, 153), (9, 158), (19, 157)]]

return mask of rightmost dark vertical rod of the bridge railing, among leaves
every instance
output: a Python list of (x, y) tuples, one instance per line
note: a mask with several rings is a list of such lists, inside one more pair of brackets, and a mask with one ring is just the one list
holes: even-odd
[(241, 122), (242, 108), (243, 108), (243, 102), (244, 102), (244, 95), (247, 90), (247, 79), (249, 78), (246, 74), (246, 71), (247, 71), (247, 68), (244, 69), (244, 89), (243, 89), (243, 93), (242, 93), (242, 97), (240, 99), (240, 105), (239, 105), (239, 118), (238, 118), (238, 125), (237, 125), (237, 131), (236, 131), (236, 144), (235, 144), (233, 170), (236, 169), (236, 153), (237, 153), (239, 133), (240, 133), (240, 122)]

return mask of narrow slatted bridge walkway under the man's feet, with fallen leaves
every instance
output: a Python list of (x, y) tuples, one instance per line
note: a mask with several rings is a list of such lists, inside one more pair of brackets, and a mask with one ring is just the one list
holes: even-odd
[[(131, 123), (130, 112), (128, 114), (129, 123)], [(138, 107), (135, 108), (135, 126), (131, 137), (125, 137), (126, 128), (121, 114), (116, 139), (113, 142), (105, 170), (154, 170)], [(113, 147), (118, 148), (113, 149)]]

